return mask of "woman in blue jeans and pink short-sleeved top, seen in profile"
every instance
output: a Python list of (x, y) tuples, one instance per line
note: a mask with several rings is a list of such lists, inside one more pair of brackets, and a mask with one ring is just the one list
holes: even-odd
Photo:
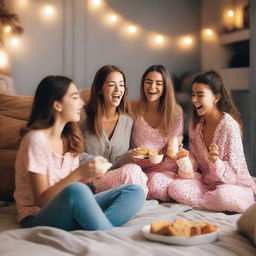
[(15, 166), (14, 196), (24, 227), (107, 230), (126, 223), (145, 201), (136, 185), (94, 196), (80, 182), (104, 175), (107, 163), (98, 157), (78, 167), (84, 148), (77, 126), (82, 106), (69, 78), (48, 76), (36, 90)]

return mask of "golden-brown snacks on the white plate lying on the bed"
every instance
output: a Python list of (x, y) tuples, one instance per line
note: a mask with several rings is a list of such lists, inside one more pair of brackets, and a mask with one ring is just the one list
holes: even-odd
[(166, 236), (192, 237), (212, 233), (217, 227), (207, 222), (192, 222), (186, 219), (177, 219), (174, 222), (164, 220), (151, 224), (150, 233)]

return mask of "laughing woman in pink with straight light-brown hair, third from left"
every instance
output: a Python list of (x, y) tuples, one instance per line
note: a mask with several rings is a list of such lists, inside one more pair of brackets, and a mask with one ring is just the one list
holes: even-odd
[[(168, 71), (162, 65), (149, 67), (142, 76), (140, 100), (132, 103), (136, 119), (132, 131), (132, 147), (146, 146), (164, 152), (169, 136), (183, 133), (183, 115), (176, 103), (174, 89)], [(168, 187), (178, 175), (174, 159), (166, 156), (160, 164), (148, 159), (133, 160), (148, 177), (148, 199), (170, 201)]]

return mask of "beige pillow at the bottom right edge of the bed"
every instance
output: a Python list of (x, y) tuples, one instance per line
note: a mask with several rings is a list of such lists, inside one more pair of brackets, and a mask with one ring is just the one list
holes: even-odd
[(243, 213), (237, 221), (237, 228), (256, 245), (256, 203)]

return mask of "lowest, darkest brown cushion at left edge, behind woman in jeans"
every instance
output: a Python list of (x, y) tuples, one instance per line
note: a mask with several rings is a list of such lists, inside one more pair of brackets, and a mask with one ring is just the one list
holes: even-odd
[(0, 201), (13, 201), (16, 150), (0, 150)]

